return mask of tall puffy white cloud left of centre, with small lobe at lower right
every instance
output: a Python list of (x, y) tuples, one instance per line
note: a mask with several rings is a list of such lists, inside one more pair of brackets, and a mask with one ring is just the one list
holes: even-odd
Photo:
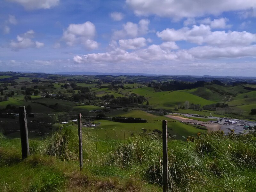
[(90, 21), (82, 24), (70, 24), (63, 32), (62, 39), (67, 45), (83, 44), (85, 48), (92, 50), (98, 48), (98, 43), (93, 41), (96, 28)]

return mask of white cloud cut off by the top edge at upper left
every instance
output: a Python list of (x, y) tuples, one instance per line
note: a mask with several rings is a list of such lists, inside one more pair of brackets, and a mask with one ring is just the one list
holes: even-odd
[(22, 5), (26, 10), (50, 9), (59, 4), (60, 0), (7, 0)]

